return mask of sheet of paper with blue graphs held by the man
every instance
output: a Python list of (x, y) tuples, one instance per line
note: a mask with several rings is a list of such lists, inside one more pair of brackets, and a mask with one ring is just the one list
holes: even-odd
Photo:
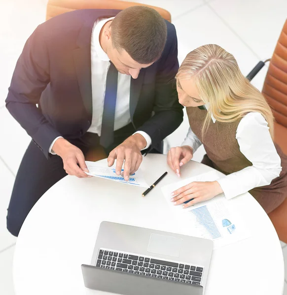
[(142, 187), (149, 187), (144, 180), (144, 176), (143, 176), (141, 169), (139, 169), (133, 175), (130, 175), (129, 181), (126, 181), (124, 179), (124, 177), (117, 176), (115, 174), (115, 165), (113, 165), (112, 167), (108, 167), (107, 163), (90, 162), (90, 161), (86, 161), (86, 165), (89, 169), (89, 173), (86, 172), (87, 175), (94, 176), (94, 177), (106, 178), (109, 180), (113, 180), (113, 181), (121, 182), (121, 183), (125, 183), (125, 184), (137, 185), (137, 186), (142, 186)]

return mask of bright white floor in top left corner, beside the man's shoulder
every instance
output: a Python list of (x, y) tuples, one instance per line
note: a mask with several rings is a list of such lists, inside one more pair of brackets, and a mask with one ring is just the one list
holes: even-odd
[(0, 10), (0, 106), (27, 38), (45, 21), (47, 0), (2, 1)]

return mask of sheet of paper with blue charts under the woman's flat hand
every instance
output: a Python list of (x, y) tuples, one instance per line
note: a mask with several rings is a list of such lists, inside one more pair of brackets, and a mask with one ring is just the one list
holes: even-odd
[(192, 181), (214, 181), (219, 177), (216, 171), (211, 171), (161, 188), (166, 201), (175, 214), (178, 213), (184, 222), (190, 223), (195, 230), (194, 235), (212, 239), (214, 248), (223, 247), (251, 236), (244, 219), (233, 207), (232, 200), (227, 200), (221, 194), (209, 201), (185, 209), (181, 205), (174, 206), (170, 200), (171, 193), (179, 187)]

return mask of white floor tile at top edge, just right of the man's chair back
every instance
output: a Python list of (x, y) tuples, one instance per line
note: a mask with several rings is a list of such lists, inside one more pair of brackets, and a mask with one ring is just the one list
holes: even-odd
[(181, 14), (195, 9), (196, 7), (203, 5), (204, 0), (128, 0), (131, 2), (138, 2), (147, 5), (157, 6), (168, 10), (172, 16), (172, 22), (175, 18)]

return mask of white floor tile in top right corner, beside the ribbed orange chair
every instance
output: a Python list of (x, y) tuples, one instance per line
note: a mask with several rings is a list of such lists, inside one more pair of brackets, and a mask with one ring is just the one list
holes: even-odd
[(286, 21), (286, 0), (215, 0), (209, 5), (261, 59), (271, 57)]

